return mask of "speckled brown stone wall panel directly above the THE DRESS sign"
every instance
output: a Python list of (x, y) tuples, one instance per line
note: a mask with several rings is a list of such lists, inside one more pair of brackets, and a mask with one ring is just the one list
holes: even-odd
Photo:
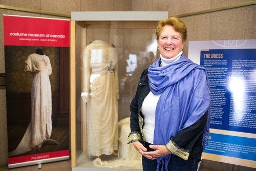
[(248, 6), (211, 13), (210, 39), (252, 39), (255, 9)]

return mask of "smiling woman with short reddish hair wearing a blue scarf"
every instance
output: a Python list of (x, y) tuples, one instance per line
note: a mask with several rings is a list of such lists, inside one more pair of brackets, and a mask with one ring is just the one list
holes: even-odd
[(160, 58), (141, 74), (128, 142), (142, 155), (143, 170), (197, 170), (209, 130), (207, 73), (182, 52), (181, 19), (161, 20), (156, 35)]

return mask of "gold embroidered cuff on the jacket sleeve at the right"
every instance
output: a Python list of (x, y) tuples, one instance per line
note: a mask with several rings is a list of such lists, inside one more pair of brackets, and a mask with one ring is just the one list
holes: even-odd
[(188, 159), (189, 151), (187, 149), (178, 148), (177, 146), (175, 146), (175, 143), (172, 142), (172, 140), (170, 140), (165, 146), (170, 152), (172, 152), (176, 156), (179, 156), (184, 160)]

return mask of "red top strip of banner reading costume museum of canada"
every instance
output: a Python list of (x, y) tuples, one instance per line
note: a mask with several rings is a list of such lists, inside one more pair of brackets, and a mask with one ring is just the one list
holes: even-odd
[(4, 26), (7, 46), (70, 46), (70, 20), (4, 15)]

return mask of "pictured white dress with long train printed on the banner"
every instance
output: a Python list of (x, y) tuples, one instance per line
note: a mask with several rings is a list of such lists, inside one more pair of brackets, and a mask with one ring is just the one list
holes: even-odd
[[(25, 61), (25, 72), (33, 73), (31, 88), (31, 121), (17, 148), (9, 153), (16, 156), (40, 148), (52, 133), (52, 92), (49, 75), (52, 67), (42, 49), (30, 54)], [(54, 140), (51, 140), (54, 141)], [(57, 143), (56, 141), (54, 141)]]

